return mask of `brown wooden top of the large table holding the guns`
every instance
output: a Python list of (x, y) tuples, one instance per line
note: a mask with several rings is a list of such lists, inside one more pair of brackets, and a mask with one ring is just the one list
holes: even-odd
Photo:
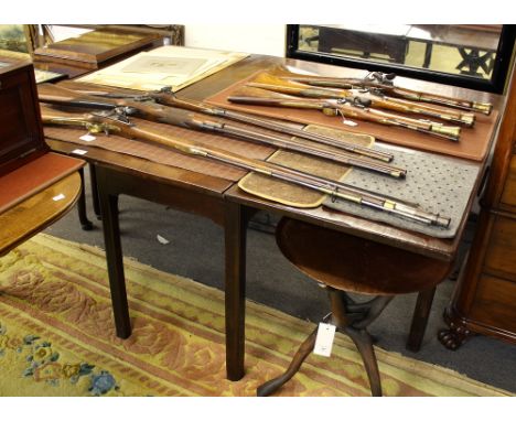
[[(228, 87), (235, 82), (275, 64), (288, 64), (309, 72), (320, 73), (329, 76), (343, 76), (343, 73), (345, 73), (345, 76), (348, 77), (363, 77), (365, 74), (364, 71), (348, 68), (344, 69), (343, 67), (302, 61), (284, 60), (270, 56), (250, 56), (226, 69), (218, 72), (217, 74), (206, 77), (205, 79), (180, 90), (178, 96), (195, 100), (203, 100)], [(450, 87), (401, 77), (399, 77), (399, 80), (400, 85), (413, 89), (427, 90), (440, 95), (462, 97), (481, 101), (491, 101), (494, 105), (494, 108), (498, 109), (503, 104), (502, 97), (492, 94), (477, 93), (470, 89)], [(76, 149), (76, 145), (74, 144), (55, 140), (49, 140), (49, 144), (53, 150), (64, 153), (71, 153), (72, 150)], [(467, 213), (464, 215), (461, 227), (459, 229), (459, 235), (455, 238), (449, 240), (438, 239), (426, 235), (394, 228), (380, 223), (366, 220), (356, 216), (330, 210), (323, 207), (314, 209), (299, 209), (284, 206), (261, 199), (259, 197), (250, 196), (240, 191), (234, 182), (194, 173), (187, 170), (152, 163), (133, 156), (121, 156), (118, 153), (99, 150), (98, 148), (86, 147), (84, 149), (87, 150), (87, 154), (83, 155), (83, 159), (108, 165), (115, 170), (133, 174), (135, 176), (144, 177), (149, 181), (154, 181), (162, 184), (172, 184), (174, 186), (196, 190), (205, 194), (224, 196), (228, 201), (237, 202), (243, 205), (289, 215), (291, 217), (297, 217), (321, 226), (331, 227), (347, 234), (357, 235), (443, 260), (452, 260), (454, 258), (458, 251), (461, 234), (466, 223)], [(485, 165), (485, 162), (482, 162), (481, 165)], [(479, 184), (480, 180), (477, 181), (477, 185)], [(467, 209), (471, 208), (475, 198), (474, 196), (475, 195), (472, 192)]]

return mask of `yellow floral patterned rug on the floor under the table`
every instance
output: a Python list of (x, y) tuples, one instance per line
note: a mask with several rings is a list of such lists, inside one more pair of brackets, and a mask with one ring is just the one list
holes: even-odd
[[(225, 378), (218, 290), (125, 261), (133, 334), (116, 337), (99, 249), (39, 235), (0, 259), (0, 396), (255, 396), (311, 323), (247, 306), (246, 376)], [(386, 396), (506, 396), (454, 371), (377, 348)], [(369, 396), (361, 358), (337, 335), (280, 396)]]

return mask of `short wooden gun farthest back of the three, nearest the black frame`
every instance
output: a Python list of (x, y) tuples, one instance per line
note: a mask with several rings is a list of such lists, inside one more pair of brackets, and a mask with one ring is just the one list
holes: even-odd
[(396, 77), (396, 74), (394, 73), (385, 74), (381, 72), (372, 72), (364, 78), (301, 75), (298, 73), (290, 72), (284, 67), (276, 68), (275, 73), (277, 73), (280, 77), (287, 77), (290, 80), (297, 80), (312, 86), (341, 89), (374, 89), (379, 95), (388, 94), (397, 98), (434, 104), (438, 106), (445, 106), (465, 111), (481, 112), (486, 116), (488, 116), (493, 110), (493, 105), (490, 102), (472, 101), (467, 99), (453, 98), (444, 95), (430, 94), (395, 86), (394, 79)]

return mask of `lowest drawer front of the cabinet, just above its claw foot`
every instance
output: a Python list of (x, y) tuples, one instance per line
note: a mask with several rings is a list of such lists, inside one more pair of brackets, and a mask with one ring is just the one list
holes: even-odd
[(516, 283), (481, 276), (472, 319), (516, 334)]

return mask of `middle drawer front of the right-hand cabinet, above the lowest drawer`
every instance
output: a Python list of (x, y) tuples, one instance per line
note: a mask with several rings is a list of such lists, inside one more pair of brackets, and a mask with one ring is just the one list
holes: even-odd
[(495, 216), (483, 271), (516, 282), (516, 218)]

